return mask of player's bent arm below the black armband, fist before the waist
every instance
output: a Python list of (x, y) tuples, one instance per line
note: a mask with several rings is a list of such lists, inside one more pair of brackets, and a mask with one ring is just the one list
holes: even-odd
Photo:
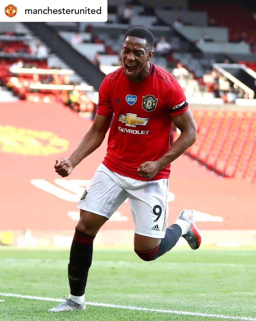
[(171, 118), (181, 134), (169, 151), (159, 160), (146, 161), (139, 166), (138, 173), (147, 179), (153, 178), (160, 170), (183, 154), (196, 140), (196, 126), (189, 108), (184, 113), (171, 116)]

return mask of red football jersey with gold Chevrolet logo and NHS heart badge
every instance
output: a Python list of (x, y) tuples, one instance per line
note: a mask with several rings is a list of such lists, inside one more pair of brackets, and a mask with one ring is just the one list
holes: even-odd
[[(137, 169), (145, 161), (161, 158), (170, 148), (171, 115), (186, 111), (188, 104), (178, 81), (150, 63), (142, 82), (131, 82), (120, 67), (106, 75), (100, 89), (97, 114), (114, 119), (103, 164), (139, 180)], [(151, 180), (168, 178), (170, 165)]]

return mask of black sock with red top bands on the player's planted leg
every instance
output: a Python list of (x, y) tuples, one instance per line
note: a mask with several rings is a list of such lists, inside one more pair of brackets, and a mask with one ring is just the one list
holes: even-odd
[(85, 293), (88, 271), (92, 264), (94, 238), (95, 236), (89, 236), (76, 228), (68, 265), (70, 294), (72, 295), (81, 296)]

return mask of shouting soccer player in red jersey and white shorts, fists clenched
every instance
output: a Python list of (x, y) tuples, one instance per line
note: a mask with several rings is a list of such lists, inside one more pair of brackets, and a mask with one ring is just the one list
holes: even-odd
[[(153, 44), (147, 29), (126, 32), (121, 48), (123, 66), (104, 78), (92, 127), (70, 158), (60, 158), (54, 165), (62, 177), (70, 175), (101, 145), (114, 114), (106, 157), (78, 203), (80, 220), (68, 265), (70, 295), (49, 311), (85, 309), (93, 240), (126, 198), (135, 223), (134, 251), (141, 259), (155, 260), (180, 236), (192, 249), (200, 246), (193, 211), (183, 210), (167, 227), (170, 163), (195, 142), (196, 126), (177, 80), (150, 62)], [(170, 147), (172, 122), (181, 134)]]

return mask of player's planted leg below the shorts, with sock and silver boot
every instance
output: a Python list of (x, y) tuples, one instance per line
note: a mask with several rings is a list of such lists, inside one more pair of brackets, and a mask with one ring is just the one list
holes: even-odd
[(73, 311), (85, 309), (85, 287), (88, 271), (92, 263), (93, 240), (107, 218), (91, 212), (80, 210), (80, 220), (76, 226), (70, 248), (68, 278), (70, 295), (57, 307), (48, 311)]

